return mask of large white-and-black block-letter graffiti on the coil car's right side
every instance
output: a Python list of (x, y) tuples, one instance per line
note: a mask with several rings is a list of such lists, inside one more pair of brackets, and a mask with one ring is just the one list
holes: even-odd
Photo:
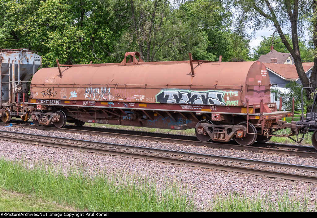
[(162, 90), (155, 98), (159, 103), (225, 105), (222, 91)]

